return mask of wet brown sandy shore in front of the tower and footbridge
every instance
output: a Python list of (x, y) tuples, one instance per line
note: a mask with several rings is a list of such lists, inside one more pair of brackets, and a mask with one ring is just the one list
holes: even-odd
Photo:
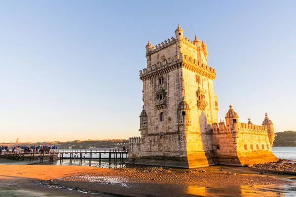
[[(221, 170), (222, 171), (221, 171)], [(176, 169), (140, 172), (137, 168), (105, 169), (91, 166), (1, 165), (0, 188), (35, 191), (50, 196), (292, 196), (294, 177), (261, 175), (244, 167), (213, 166), (206, 172)], [(188, 172), (186, 172), (188, 171)], [(230, 175), (227, 171), (231, 171)], [(291, 180), (292, 178), (292, 180)], [(45, 187), (40, 180), (58, 184)], [(63, 187), (62, 189), (59, 187)], [(84, 194), (70, 189), (96, 194)], [(1, 191), (0, 191), (1, 192)], [(40, 194), (39, 194), (40, 195)], [(36, 195), (37, 196), (37, 195)], [(296, 196), (296, 195), (295, 195)]]

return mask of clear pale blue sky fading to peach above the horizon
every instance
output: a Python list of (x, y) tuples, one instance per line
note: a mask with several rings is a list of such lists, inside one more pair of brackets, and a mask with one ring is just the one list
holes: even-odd
[(145, 45), (178, 23), (208, 45), (229, 104), (296, 131), (296, 1), (0, 0), (0, 142), (140, 136)]

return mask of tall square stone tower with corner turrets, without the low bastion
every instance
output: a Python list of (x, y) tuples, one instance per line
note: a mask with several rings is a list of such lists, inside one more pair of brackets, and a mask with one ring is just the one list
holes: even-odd
[(207, 45), (183, 35), (178, 25), (155, 47), (146, 45), (147, 68), (140, 70), (144, 107), (141, 138), (130, 138), (129, 160), (137, 164), (197, 167), (215, 164), (212, 124), (218, 99), (207, 65)]

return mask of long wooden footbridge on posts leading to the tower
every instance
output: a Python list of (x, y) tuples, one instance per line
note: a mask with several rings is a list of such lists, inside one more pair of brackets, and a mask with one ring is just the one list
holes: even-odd
[[(18, 159), (18, 160), (24, 160), (25, 156), (30, 157), (30, 162), (34, 161), (34, 157), (36, 156), (45, 156), (54, 157), (60, 154), (60, 164), (63, 163), (63, 159), (67, 158), (70, 159), (70, 163), (73, 162), (73, 159), (78, 160), (82, 163), (82, 160), (84, 158), (82, 157), (83, 154), (89, 154), (89, 163), (91, 163), (91, 160), (93, 159), (93, 154), (99, 154), (99, 157), (96, 157), (94, 159), (99, 159), (101, 162), (101, 159), (109, 159), (109, 162), (111, 162), (111, 159), (114, 159), (114, 161), (117, 162), (117, 159), (122, 160), (128, 158), (128, 149), (50, 149), (48, 151), (39, 151), (39, 150), (30, 150), (29, 152), (25, 152), (24, 150), (14, 150), (14, 151), (6, 151), (2, 150), (0, 152), (0, 157), (5, 158), (12, 158), (12, 159)], [(66, 157), (64, 154), (70, 154), (70, 157)], [(74, 158), (73, 155), (77, 154), (77, 158)], [(108, 154), (109, 157), (102, 157), (102, 155)], [(112, 155), (114, 157), (112, 157)], [(125, 155), (125, 157), (123, 157)]]

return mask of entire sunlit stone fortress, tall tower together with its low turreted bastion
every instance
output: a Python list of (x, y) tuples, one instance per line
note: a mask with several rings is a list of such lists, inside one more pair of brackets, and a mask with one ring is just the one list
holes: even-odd
[(273, 124), (240, 123), (230, 105), (226, 124), (218, 123), (216, 70), (207, 64), (207, 45), (183, 35), (155, 47), (146, 45), (141, 137), (129, 138), (127, 163), (193, 168), (215, 164), (243, 165), (277, 161), (272, 154)]

